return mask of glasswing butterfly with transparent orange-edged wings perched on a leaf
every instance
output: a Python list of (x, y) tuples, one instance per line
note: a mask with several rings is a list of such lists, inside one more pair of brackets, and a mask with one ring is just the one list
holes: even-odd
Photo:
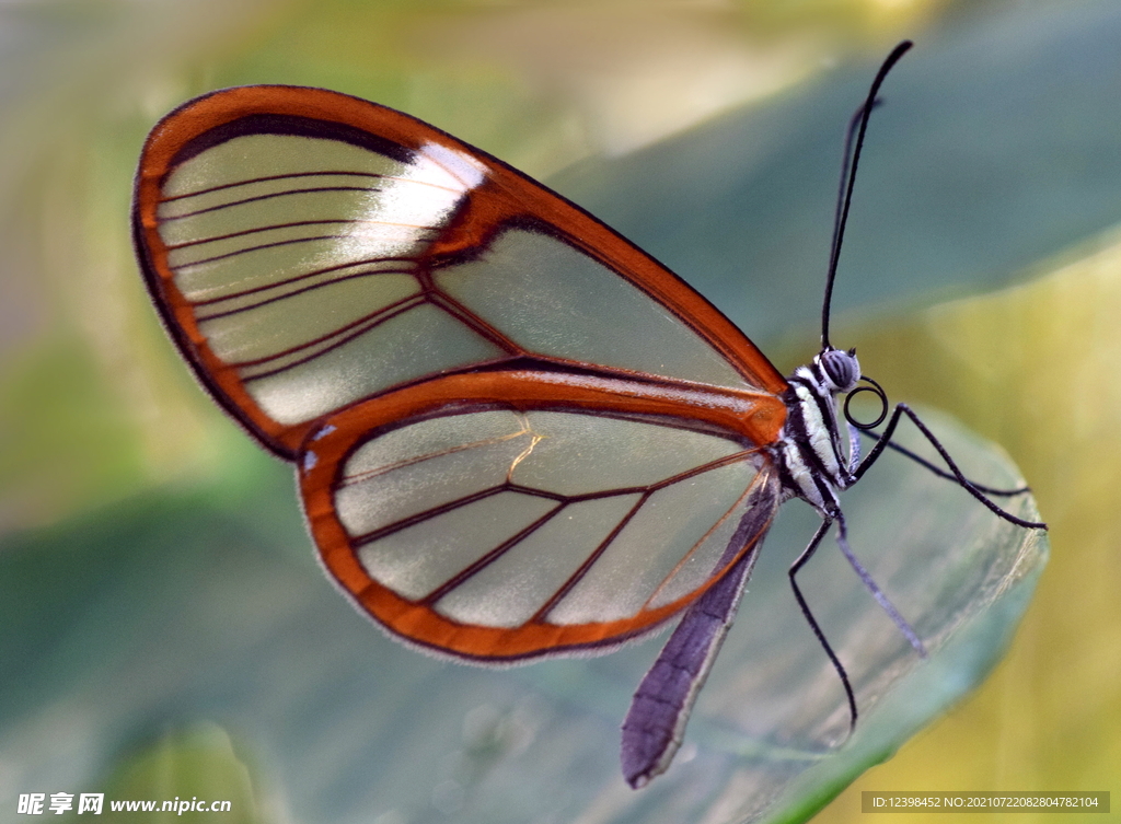
[[(923, 651), (849, 548), (837, 493), (898, 448), (901, 417), (937, 442), (899, 405), (861, 459), (858, 427), (881, 423), (887, 398), (827, 327), (868, 117), (907, 47), (850, 126), (823, 348), (789, 378), (578, 206), (415, 118), (321, 89), (226, 89), (165, 117), (136, 177), (137, 257), (202, 385), (295, 463), (328, 576), (391, 637), (511, 665), (609, 652), (680, 618), (623, 724), (623, 774), (640, 787), (680, 744), (790, 498), (822, 517), (790, 580), (853, 723), (794, 575), (833, 525)], [(837, 398), (861, 390), (880, 419), (856, 423), (846, 400), (842, 426)], [(945, 457), (951, 472), (930, 469), (1003, 513)]]

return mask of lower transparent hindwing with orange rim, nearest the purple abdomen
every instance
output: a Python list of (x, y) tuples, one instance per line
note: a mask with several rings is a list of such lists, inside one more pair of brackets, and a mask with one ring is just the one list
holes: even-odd
[(540, 395), (372, 428), (360, 407), (313, 434), (300, 484), (324, 564), (392, 633), (479, 661), (609, 651), (766, 531), (741, 528), (777, 483), (750, 438)]

